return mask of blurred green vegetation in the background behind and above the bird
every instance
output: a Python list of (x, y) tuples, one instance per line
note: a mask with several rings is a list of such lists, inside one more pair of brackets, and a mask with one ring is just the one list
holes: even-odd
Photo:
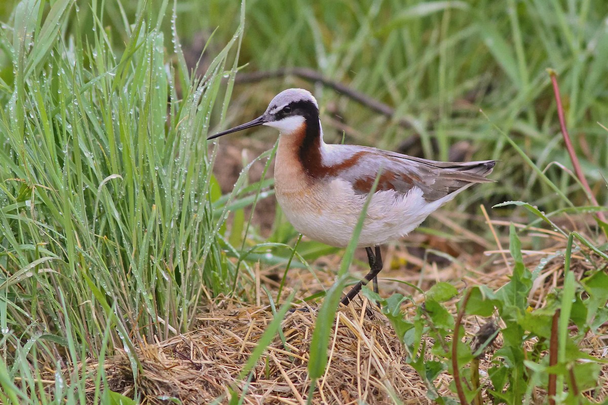
[[(14, 4), (3, 2), (3, 21)], [(98, 9), (120, 47), (126, 42), (123, 18), (133, 21), (140, 6), (117, 4), (100, 2)], [(160, 0), (149, 2), (153, 14), (161, 5)], [(194, 68), (207, 47), (199, 72), (204, 70), (209, 55), (232, 38), (239, 10), (236, 1), (177, 3), (177, 30), (188, 66)], [(75, 13), (83, 21), (80, 34), (90, 36), (89, 6), (81, 4), (78, 12), (72, 9)], [(608, 117), (607, 16), (603, 2), (590, 0), (249, 1), (238, 60), (244, 80), (250, 73), (307, 67), (387, 104), (394, 114), (378, 114), (318, 81), (295, 75), (241, 84), (237, 77), (230, 123), (248, 120), (286, 87), (306, 87), (322, 105), (327, 141), (341, 141), (344, 133), (347, 143), (426, 158), (499, 159), (495, 178), (500, 182), (461, 196), (467, 203), (516, 198), (551, 210), (567, 202), (555, 198), (506, 147), (503, 135), (513, 138), (539, 168), (550, 166), (546, 174), (568, 197), (585, 203), (572, 176), (550, 165), (570, 168), (546, 71), (553, 68), (576, 151), (603, 203), (608, 137), (598, 123), (606, 124)], [(168, 18), (162, 30), (170, 32)], [(167, 47), (170, 38), (165, 35)], [(10, 80), (10, 66), (4, 79)], [(274, 134), (263, 133), (270, 145)]]

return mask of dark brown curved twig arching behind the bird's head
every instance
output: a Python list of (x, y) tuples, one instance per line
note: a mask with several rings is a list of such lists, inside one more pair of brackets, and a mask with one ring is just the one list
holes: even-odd
[[(268, 72), (239, 73), (235, 79), (235, 83), (255, 83), (262, 80), (289, 75), (294, 75), (304, 80), (321, 83), (323, 86), (330, 87), (340, 94), (344, 94), (351, 100), (358, 102), (362, 106), (368, 107), (372, 111), (379, 112), (386, 117), (393, 118), (395, 116), (395, 109), (388, 104), (384, 104), (381, 101), (368, 97), (368, 95), (351, 89), (345, 84), (329, 80), (328, 78), (323, 77), (321, 73), (317, 72), (316, 70), (309, 69), (308, 67), (282, 67), (281, 69), (270, 70)], [(399, 118), (398, 123), (406, 128), (412, 127), (412, 123), (406, 118)]]

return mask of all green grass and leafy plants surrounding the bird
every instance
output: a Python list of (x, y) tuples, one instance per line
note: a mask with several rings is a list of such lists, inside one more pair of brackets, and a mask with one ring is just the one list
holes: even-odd
[[(545, 390), (562, 403), (593, 399), (589, 389), (597, 379), (589, 377), (598, 375), (601, 361), (575, 347), (589, 336), (604, 339), (606, 240), (584, 220), (597, 208), (570, 169), (546, 69), (558, 73), (582, 173), (606, 205), (608, 138), (597, 124), (606, 125), (608, 117), (601, 2), (250, 1), (243, 12), (237, 2), (219, 0), (13, 4), (0, 9), (6, 13), (0, 31), (0, 402), (142, 401), (145, 384), (134, 384), (130, 398), (112, 391), (108, 356), (123, 351), (138, 381), (145, 370), (138, 350), (195, 328), (210, 300), (260, 299), (258, 262), (280, 265), (283, 274), (286, 264), (313, 270), (308, 262), (336, 252), (299, 242), (280, 213), (268, 238), (246, 215), (272, 195), (272, 180), (265, 179), (271, 161), (264, 161), (272, 149), (258, 158), (262, 179), (250, 179), (249, 169), (259, 163), (247, 162), (229, 194), (221, 194), (211, 171), (218, 149), (207, 145), (207, 133), (256, 116), (278, 90), (294, 85), (319, 98), (328, 141), (344, 136), (347, 143), (398, 149), (407, 139), (419, 151), (410, 146), (406, 152), (444, 160), (464, 141), (463, 159), (499, 158), (500, 181), (472, 189), (454, 211), (472, 216), (481, 202), (520, 200), (490, 211), (489, 227), (471, 216), (466, 223), (488, 243), (494, 243), (496, 217), (523, 229), (498, 229), (497, 240), (510, 247), (511, 259), (504, 257), (505, 270), (514, 268), (511, 281), (460, 292), (437, 284), (425, 306), (408, 296), (383, 301), (409, 353), (406, 364), (429, 395), (446, 403), (475, 400), (478, 392), (469, 388), (475, 362), (465, 344), (454, 339), (455, 352), (420, 344), (454, 331), (461, 336), (458, 319), (480, 316), (502, 328), (503, 346), (488, 370), (496, 398), (530, 402)], [(203, 33), (202, 56), (192, 27)], [(197, 74), (186, 62), (192, 53), (195, 61), (200, 56)], [(379, 116), (329, 87), (292, 77), (238, 82), (285, 66), (312, 67), (395, 113)], [(576, 217), (564, 225), (565, 215)], [(544, 239), (533, 227), (544, 236), (558, 234), (557, 243), (547, 245), (557, 236)], [(438, 221), (422, 231), (457, 239), (454, 227)], [(556, 276), (551, 294), (540, 294), (534, 308), (528, 296), (534, 281), (547, 276), (549, 260), (525, 263), (520, 239), (528, 251), (552, 249), (549, 257), (565, 260), (558, 270), (563, 277)], [(494, 270), (496, 257), (472, 267)], [(579, 265), (581, 257), (589, 264)], [(340, 274), (352, 259), (348, 251)], [(316, 324), (311, 342), (312, 378), (326, 375), (331, 298), (339, 290), (329, 290), (320, 310), (325, 322)], [(232, 401), (243, 395), (239, 381), (249, 370), (258, 376), (264, 347), (282, 333), (286, 302), (323, 295), (284, 294), (275, 303), (274, 294), (268, 291), (269, 305), (280, 309), (231, 387)], [(445, 304), (449, 299), (465, 309)], [(400, 310), (408, 301), (415, 311), (404, 318)], [(510, 367), (501, 367), (505, 362)], [(434, 376), (454, 375), (463, 364), (470, 386), (455, 384), (452, 393), (435, 387)]]

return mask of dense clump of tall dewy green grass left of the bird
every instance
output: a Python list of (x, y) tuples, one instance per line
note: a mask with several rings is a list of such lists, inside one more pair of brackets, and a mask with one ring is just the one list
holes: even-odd
[[(175, 24), (173, 49), (159, 29), (175, 11), (140, 0), (109, 27), (103, 7), (90, 4), (91, 32), (71, 0), (22, 0), (0, 35), (12, 65), (0, 86), (2, 401), (46, 390), (85, 403), (81, 362), (119, 348), (136, 375), (133, 342), (188, 330), (201, 298), (235, 279), (206, 134), (214, 107), (226, 112), (244, 16), (196, 78)], [(55, 364), (54, 387), (38, 364)]]

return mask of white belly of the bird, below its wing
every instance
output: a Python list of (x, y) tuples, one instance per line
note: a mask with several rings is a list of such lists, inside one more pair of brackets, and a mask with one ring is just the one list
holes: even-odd
[[(336, 247), (348, 245), (367, 198), (340, 179), (297, 192), (281, 186), (275, 191), (285, 216), (297, 231)], [(407, 194), (376, 192), (365, 214), (358, 247), (373, 247), (406, 235), (446, 201), (429, 203), (418, 188)]]

